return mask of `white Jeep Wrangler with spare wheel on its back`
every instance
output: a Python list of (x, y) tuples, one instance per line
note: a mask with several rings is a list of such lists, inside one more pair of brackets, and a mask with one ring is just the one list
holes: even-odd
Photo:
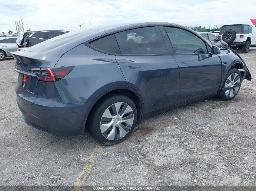
[(256, 27), (249, 24), (231, 24), (221, 26), (218, 38), (233, 49), (248, 53), (250, 46), (256, 47)]

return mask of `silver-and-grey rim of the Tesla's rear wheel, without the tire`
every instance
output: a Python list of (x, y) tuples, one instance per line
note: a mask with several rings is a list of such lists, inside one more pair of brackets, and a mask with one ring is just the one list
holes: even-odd
[(130, 131), (133, 121), (131, 106), (124, 102), (114, 103), (101, 117), (101, 133), (108, 140), (118, 140)]

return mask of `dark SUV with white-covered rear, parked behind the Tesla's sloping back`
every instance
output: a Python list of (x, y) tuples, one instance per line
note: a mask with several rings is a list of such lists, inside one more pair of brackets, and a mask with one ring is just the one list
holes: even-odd
[(19, 48), (30, 47), (45, 40), (57, 37), (59, 35), (68, 33), (67, 30), (37, 30), (37, 31), (27, 31), (19, 32), (16, 43)]

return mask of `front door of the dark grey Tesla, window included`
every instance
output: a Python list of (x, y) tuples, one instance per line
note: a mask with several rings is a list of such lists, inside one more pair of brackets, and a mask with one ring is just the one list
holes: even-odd
[(179, 66), (178, 103), (215, 94), (221, 82), (221, 60), (208, 53), (206, 43), (190, 31), (165, 27)]

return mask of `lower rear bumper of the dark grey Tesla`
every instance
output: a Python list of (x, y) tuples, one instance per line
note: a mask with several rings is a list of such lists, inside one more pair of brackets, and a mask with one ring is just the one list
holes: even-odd
[(39, 130), (58, 136), (77, 136), (84, 132), (86, 113), (91, 103), (72, 103), (48, 107), (33, 104), (28, 106), (17, 99), (25, 122)]

